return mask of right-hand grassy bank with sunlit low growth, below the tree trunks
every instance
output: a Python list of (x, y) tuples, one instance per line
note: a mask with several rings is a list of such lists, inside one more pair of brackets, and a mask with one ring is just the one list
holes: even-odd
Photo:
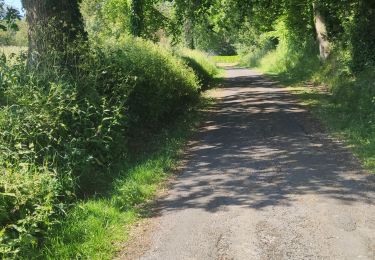
[[(287, 86), (333, 136), (352, 149), (366, 169), (375, 173), (374, 69), (353, 75), (347, 53), (340, 50), (322, 66), (311, 39), (303, 45), (280, 39), (275, 49), (245, 55), (241, 65), (255, 67)], [(311, 87), (311, 83), (327, 87)]]

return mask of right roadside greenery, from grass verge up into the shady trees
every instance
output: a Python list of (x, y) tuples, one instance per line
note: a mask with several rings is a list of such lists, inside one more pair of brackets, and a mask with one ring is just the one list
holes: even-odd
[[(289, 86), (375, 172), (374, 38), (369, 29), (373, 19), (367, 20), (374, 6), (323, 1), (319, 10), (309, 5), (299, 8), (274, 14), (276, 22), (259, 32), (256, 44), (243, 52), (241, 64)], [(296, 11), (310, 24), (295, 21)], [(318, 19), (324, 26), (316, 28)], [(317, 31), (325, 43), (316, 40)]]

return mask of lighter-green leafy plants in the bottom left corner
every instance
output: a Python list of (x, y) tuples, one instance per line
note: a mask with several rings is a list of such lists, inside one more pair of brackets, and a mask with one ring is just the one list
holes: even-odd
[(61, 213), (56, 174), (23, 165), (3, 169), (0, 178), (0, 255), (15, 258), (19, 250), (37, 246)]

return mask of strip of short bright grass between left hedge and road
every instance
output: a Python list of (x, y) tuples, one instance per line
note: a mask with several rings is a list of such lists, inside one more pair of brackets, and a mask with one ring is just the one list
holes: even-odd
[(49, 233), (43, 250), (28, 257), (112, 259), (128, 238), (132, 224), (150, 215), (148, 203), (176, 169), (184, 144), (200, 121), (198, 111), (211, 102), (202, 98), (199, 108), (150, 138), (157, 141), (145, 142), (148, 152), (138, 153), (122, 166), (122, 177), (108, 196), (76, 204)]

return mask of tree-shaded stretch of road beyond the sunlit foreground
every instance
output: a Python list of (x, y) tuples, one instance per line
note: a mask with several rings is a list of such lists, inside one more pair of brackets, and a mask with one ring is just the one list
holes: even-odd
[(374, 204), (375, 176), (363, 173), (293, 96), (256, 73), (229, 73), (162, 211), (262, 210), (309, 194)]

